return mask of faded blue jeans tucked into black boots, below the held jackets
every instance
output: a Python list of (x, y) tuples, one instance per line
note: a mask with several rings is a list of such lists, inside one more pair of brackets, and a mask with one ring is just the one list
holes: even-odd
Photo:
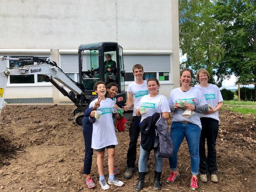
[[(139, 172), (146, 172), (149, 154), (150, 154), (150, 151), (144, 150), (140, 145)], [(157, 157), (155, 153), (154, 155), (155, 155), (155, 171), (162, 172), (163, 158)]]

